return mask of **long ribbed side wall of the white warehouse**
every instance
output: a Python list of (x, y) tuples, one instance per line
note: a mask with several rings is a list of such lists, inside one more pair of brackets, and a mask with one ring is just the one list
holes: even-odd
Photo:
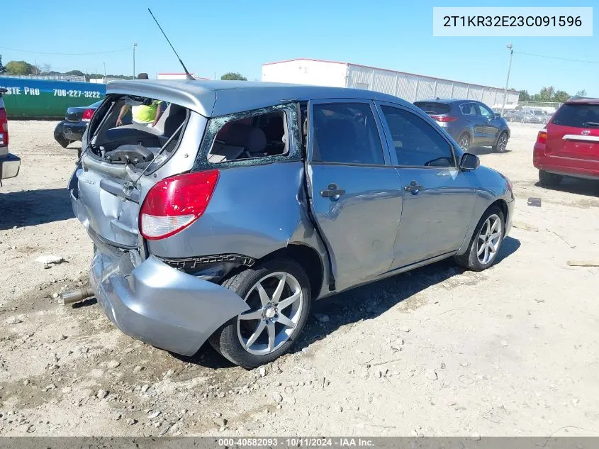
[[(407, 101), (440, 97), (478, 100), (494, 109), (501, 108), (503, 105), (504, 90), (497, 87), (352, 64), (349, 65), (347, 72), (347, 87), (384, 92)], [(518, 92), (508, 90), (506, 104), (515, 107), (518, 95)]]

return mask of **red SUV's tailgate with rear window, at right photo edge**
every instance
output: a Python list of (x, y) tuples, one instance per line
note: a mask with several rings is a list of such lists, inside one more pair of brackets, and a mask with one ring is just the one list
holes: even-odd
[(561, 106), (547, 125), (545, 154), (572, 162), (599, 162), (599, 104)]

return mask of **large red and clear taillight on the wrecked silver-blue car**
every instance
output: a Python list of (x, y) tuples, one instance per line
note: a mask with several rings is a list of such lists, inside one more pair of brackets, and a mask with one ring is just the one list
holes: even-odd
[(170, 237), (206, 211), (218, 170), (179, 174), (155, 184), (140, 210), (140, 232), (147, 240)]

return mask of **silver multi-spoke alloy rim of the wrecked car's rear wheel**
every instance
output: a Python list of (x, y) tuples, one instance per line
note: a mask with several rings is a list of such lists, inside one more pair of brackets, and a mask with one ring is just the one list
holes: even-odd
[(298, 280), (286, 272), (259, 279), (245, 296), (250, 310), (237, 316), (237, 338), (250, 354), (267, 355), (295, 331), (303, 309)]

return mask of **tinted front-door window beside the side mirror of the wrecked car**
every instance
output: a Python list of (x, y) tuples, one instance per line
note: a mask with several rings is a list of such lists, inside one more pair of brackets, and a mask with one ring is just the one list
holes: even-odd
[(454, 167), (452, 146), (429, 123), (405, 109), (381, 106), (386, 118), (398, 165)]

